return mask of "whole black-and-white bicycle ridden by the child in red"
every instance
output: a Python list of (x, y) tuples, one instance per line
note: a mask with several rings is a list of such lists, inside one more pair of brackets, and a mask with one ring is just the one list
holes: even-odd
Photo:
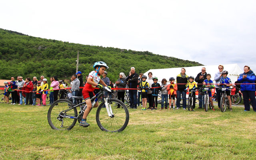
[[(129, 112), (125, 104), (117, 99), (109, 99), (104, 96), (104, 90), (111, 92), (108, 87), (103, 87), (92, 100), (92, 108), (98, 101), (98, 98), (103, 96), (104, 102), (102, 102), (96, 111), (96, 122), (101, 130), (108, 132), (121, 132), (124, 130), (129, 122)], [(83, 97), (75, 97), (83, 98)], [(116, 104), (120, 104), (120, 108), (117, 108)], [(79, 113), (76, 107), (79, 107)], [(76, 124), (76, 121), (80, 123), (84, 110), (86, 109), (86, 102), (80, 104), (73, 104), (66, 99), (60, 99), (55, 101), (48, 110), (48, 123), (55, 130), (71, 130)]]

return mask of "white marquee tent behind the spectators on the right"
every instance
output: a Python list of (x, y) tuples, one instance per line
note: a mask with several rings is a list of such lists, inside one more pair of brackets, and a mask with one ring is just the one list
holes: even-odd
[[(232, 83), (236, 82), (239, 74), (243, 73), (243, 71), (237, 64), (224, 64), (223, 66), (224, 66), (224, 70), (228, 71), (228, 77), (231, 79)], [(146, 73), (144, 73), (144, 75), (148, 77), (148, 72), (152, 72), (153, 77), (157, 77), (158, 83), (161, 84), (161, 81), (163, 78), (165, 78), (167, 81), (169, 81), (170, 77), (174, 77), (176, 79), (176, 76), (180, 74), (181, 68), (186, 69), (186, 75), (194, 76), (194, 78), (196, 78), (197, 74), (199, 72), (202, 72), (201, 71), (202, 67), (206, 68), (207, 74), (211, 74), (212, 76), (211, 80), (215, 83), (214, 75), (216, 72), (218, 72), (218, 65), (154, 69), (154, 70), (148, 70)]]

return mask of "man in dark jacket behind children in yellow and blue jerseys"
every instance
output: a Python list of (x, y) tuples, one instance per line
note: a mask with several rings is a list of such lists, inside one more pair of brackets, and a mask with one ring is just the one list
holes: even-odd
[[(204, 82), (204, 80), (206, 80), (206, 68), (202, 68), (202, 72), (198, 73), (195, 81), (198, 83), (198, 88), (202, 88), (203, 85), (202, 83)], [(198, 94), (198, 100), (199, 100), (199, 107), (198, 108), (203, 108), (204, 107), (204, 95)]]

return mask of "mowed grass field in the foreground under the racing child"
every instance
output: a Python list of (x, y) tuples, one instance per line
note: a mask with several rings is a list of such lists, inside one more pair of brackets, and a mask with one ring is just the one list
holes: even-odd
[(53, 130), (48, 108), (0, 104), (0, 159), (256, 159), (252, 109), (129, 109), (126, 129), (109, 133), (97, 126), (95, 108), (88, 128)]

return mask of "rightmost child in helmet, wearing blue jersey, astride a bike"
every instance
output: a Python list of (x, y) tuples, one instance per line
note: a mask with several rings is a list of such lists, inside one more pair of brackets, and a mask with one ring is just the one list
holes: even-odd
[[(230, 78), (228, 78), (228, 71), (224, 70), (222, 71), (222, 76), (223, 78), (220, 78), (220, 84), (219, 86), (222, 86), (222, 88), (226, 88), (226, 94), (228, 96), (228, 102), (229, 102), (229, 110), (232, 112), (232, 106), (231, 106), (231, 98), (230, 98), (230, 90), (228, 90), (230, 88), (230, 86), (232, 86), (232, 82), (230, 80)], [(223, 90), (222, 93), (224, 93), (225, 91)]]

